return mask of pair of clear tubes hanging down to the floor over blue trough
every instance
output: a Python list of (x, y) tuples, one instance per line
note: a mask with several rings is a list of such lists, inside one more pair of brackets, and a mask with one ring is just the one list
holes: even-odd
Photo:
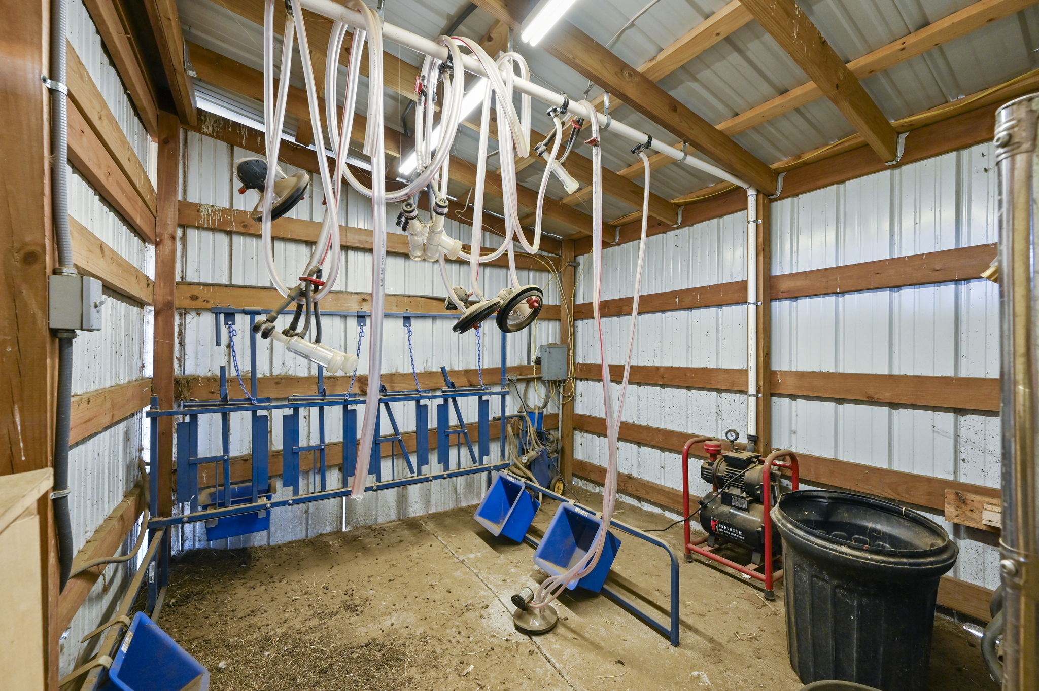
[[(587, 107), (591, 107), (587, 102), (583, 102)], [(598, 139), (600, 128), (595, 118), (591, 120), (592, 137)], [(635, 286), (632, 298), (632, 322), (628, 333), (628, 350), (624, 358), (624, 374), (620, 383), (620, 395), (617, 400), (617, 409), (613, 409), (613, 395), (610, 391), (610, 365), (606, 353), (606, 346), (603, 339), (603, 323), (600, 309), (600, 301), (603, 285), (603, 155), (598, 145), (592, 147), (592, 261), (594, 293), (592, 297), (592, 310), (595, 316), (595, 330), (598, 335), (600, 361), (603, 363), (603, 399), (606, 408), (607, 427), (607, 470), (606, 481), (603, 492), (603, 515), (598, 530), (592, 541), (591, 548), (585, 556), (574, 564), (566, 573), (550, 576), (538, 587), (534, 596), (533, 607), (544, 607), (559, 597), (568, 583), (580, 579), (591, 572), (598, 563), (603, 552), (603, 545), (606, 542), (606, 533), (609, 530), (610, 521), (613, 519), (613, 512), (617, 502), (617, 438), (620, 433), (620, 418), (624, 410), (624, 397), (628, 392), (628, 380), (632, 367), (632, 354), (635, 349), (635, 333), (638, 327), (639, 314), (639, 293), (642, 284), (642, 269), (645, 264), (646, 230), (648, 227), (649, 208), (649, 159), (642, 150), (638, 153), (642, 160), (645, 171), (645, 192), (642, 198), (642, 232), (639, 239), (639, 256), (635, 272)]]

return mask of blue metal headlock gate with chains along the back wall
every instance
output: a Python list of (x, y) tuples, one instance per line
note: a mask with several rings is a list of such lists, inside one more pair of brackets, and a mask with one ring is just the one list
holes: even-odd
[[(152, 398), (152, 408), (145, 413), (151, 419), (151, 462), (152, 468), (158, 467), (158, 436), (159, 419), (172, 417), (176, 420), (175, 470), (176, 502), (184, 507), (180, 516), (155, 517), (149, 522), (153, 536), (159, 531), (165, 532), (169, 540), (167, 528), (174, 525), (186, 525), (205, 522), (206, 537), (209, 541), (233, 537), (260, 530), (270, 526), (270, 513), (282, 506), (298, 505), (313, 501), (337, 499), (352, 494), (355, 489), (350, 487), (356, 467), (357, 434), (359, 418), (357, 408), (365, 405), (365, 396), (353, 392), (355, 376), (351, 378), (346, 393), (330, 394), (326, 391), (324, 371), (318, 367), (317, 387), (314, 394), (293, 395), (279, 402), (259, 395), (257, 381), (257, 335), (252, 333), (252, 325), (260, 309), (241, 309), (231, 307), (214, 307), (212, 310), (215, 323), (215, 344), (222, 344), (222, 334), (227, 331), (230, 337), (234, 376), (243, 397), (233, 397), (228, 386), (228, 368), (219, 368), (220, 397), (214, 400), (185, 400), (178, 403), (172, 410), (160, 410), (158, 399)], [(355, 316), (359, 330), (357, 351), (361, 351), (361, 338), (364, 337), (368, 312), (358, 311), (323, 311), (323, 315)], [(249, 379), (246, 383), (241, 375), (239, 353), (236, 349), (235, 336), (239, 333), (237, 322), (240, 316), (247, 321), (243, 333), (248, 338)], [(381, 414), (375, 427), (375, 442), (372, 444), (370, 459), (369, 481), (365, 492), (377, 492), (392, 488), (430, 482), (435, 479), (457, 477), (474, 473), (490, 473), (508, 467), (505, 459), (505, 425), (509, 417), (508, 381), (506, 379), (506, 334), (501, 334), (501, 368), (497, 386), (483, 384), (483, 372), (480, 369), (480, 384), (477, 386), (457, 386), (451, 381), (446, 367), (441, 367), (444, 386), (438, 392), (422, 389), (418, 374), (415, 370), (415, 360), (411, 355), (411, 320), (423, 319), (456, 319), (454, 314), (390, 312), (388, 319), (398, 317), (407, 330), (408, 354), (411, 360), (411, 374), (415, 388), (402, 391), (392, 391), (381, 387), (379, 407)], [(478, 336), (479, 338), (479, 336)], [(478, 367), (482, 366), (482, 358)], [(499, 416), (495, 420), (500, 425), (500, 454), (496, 463), (490, 462), (490, 424), (492, 400), (498, 399)], [(473, 440), (469, 434), (467, 421), (462, 415), (463, 399), (475, 399), (477, 410), (477, 438)], [(414, 411), (415, 444), (408, 448), (404, 433), (398, 424), (398, 417), (406, 413), (406, 408)], [(432, 408), (432, 410), (430, 410)], [(329, 409), (339, 409), (342, 413), (342, 434), (335, 435), (339, 439), (329, 442), (327, 436), (327, 417)], [(300, 438), (303, 421), (303, 411), (310, 415), (311, 422), (317, 421), (316, 443), (304, 443)], [(432, 416), (430, 415), (432, 413)], [(246, 415), (243, 415), (246, 414)], [(277, 416), (281, 419), (277, 420)], [(245, 418), (245, 419), (243, 419)], [(239, 420), (242, 420), (239, 422)], [(199, 454), (199, 427), (210, 421), (218, 425), (218, 452)], [(249, 473), (248, 477), (235, 481), (233, 479), (232, 463), (232, 432), (234, 424), (248, 426)], [(274, 430), (272, 425), (281, 424), (282, 432), (282, 487), (283, 492), (275, 493), (271, 481), (271, 448), (270, 438)], [(385, 424), (388, 423), (388, 424)], [(204, 439), (213, 435), (211, 426), (203, 426), (206, 431)], [(236, 430), (240, 433), (241, 429)], [(430, 448), (430, 433), (436, 440), (436, 448)], [(240, 434), (239, 434), (240, 436)], [(340, 444), (340, 440), (342, 443)], [(330, 447), (336, 444), (336, 457), (330, 457)], [(452, 449), (456, 449), (453, 454)], [(312, 462), (304, 465), (303, 454), (310, 453)], [(454, 457), (454, 460), (452, 459)], [(389, 463), (385, 461), (389, 460)], [(400, 463), (398, 463), (400, 460)], [(329, 472), (329, 468), (342, 465), (342, 480), (339, 475)], [(275, 469), (276, 470), (276, 469)], [(312, 473), (312, 481), (304, 483), (301, 477)], [(276, 474), (276, 472), (275, 472)], [(208, 479), (207, 479), (208, 478)], [(307, 491), (307, 487), (310, 490)], [(285, 490), (291, 489), (291, 496)], [(275, 498), (279, 494), (281, 498)], [(150, 505), (159, 505), (158, 482), (151, 483)], [(158, 558), (160, 575), (153, 579), (149, 588), (149, 608), (155, 605), (161, 586), (168, 582), (169, 550), (161, 551)]]

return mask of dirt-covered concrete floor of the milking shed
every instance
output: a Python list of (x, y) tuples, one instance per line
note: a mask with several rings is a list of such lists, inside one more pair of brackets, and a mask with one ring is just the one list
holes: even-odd
[[(589, 505), (595, 496), (583, 493)], [(758, 589), (703, 563), (681, 562), (680, 647), (606, 598), (572, 593), (557, 603), (555, 631), (518, 634), (509, 597), (543, 575), (530, 546), (491, 536), (473, 510), (191, 553), (174, 565), (159, 624), (211, 670), (213, 691), (800, 689), (787, 659), (781, 590), (767, 604)], [(554, 512), (547, 503), (532, 535)], [(617, 518), (668, 522), (623, 503)], [(681, 554), (681, 527), (658, 534)], [(619, 536), (609, 584), (655, 604), (666, 620), (664, 552)], [(930, 688), (997, 688), (978, 639), (941, 616)]]

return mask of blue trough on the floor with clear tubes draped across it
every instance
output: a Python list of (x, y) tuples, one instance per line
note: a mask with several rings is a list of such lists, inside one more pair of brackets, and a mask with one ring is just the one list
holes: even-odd
[[(549, 529), (544, 531), (544, 537), (534, 551), (534, 564), (549, 574), (565, 574), (591, 549), (595, 531), (601, 524), (600, 518), (589, 516), (572, 504), (560, 504), (556, 515), (552, 517)], [(580, 585), (592, 592), (602, 590), (618, 549), (620, 540), (607, 531), (598, 563), (576, 584), (570, 583), (566, 587), (572, 590)]]

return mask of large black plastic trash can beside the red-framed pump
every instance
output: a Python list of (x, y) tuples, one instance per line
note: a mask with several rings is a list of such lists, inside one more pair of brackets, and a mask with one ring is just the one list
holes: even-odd
[(848, 492), (790, 492), (782, 535), (790, 662), (803, 684), (925, 691), (938, 579), (957, 548), (934, 521)]

